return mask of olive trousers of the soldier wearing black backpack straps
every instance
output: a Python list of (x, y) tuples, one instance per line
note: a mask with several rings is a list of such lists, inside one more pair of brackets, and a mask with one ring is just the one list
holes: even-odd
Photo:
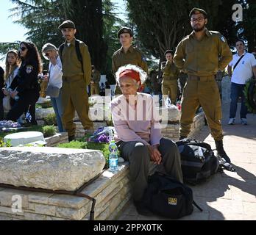
[(93, 128), (93, 122), (90, 120), (88, 93), (86, 90), (85, 79), (82, 75), (65, 77), (63, 76), (62, 87), (63, 101), (63, 126), (68, 131), (68, 136), (74, 136), (76, 124), (74, 123), (75, 111), (84, 129)]

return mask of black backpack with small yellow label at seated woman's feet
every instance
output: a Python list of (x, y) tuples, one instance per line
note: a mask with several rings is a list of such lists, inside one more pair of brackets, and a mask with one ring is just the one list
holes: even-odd
[(193, 205), (202, 211), (193, 201), (193, 192), (190, 187), (161, 173), (149, 176), (143, 203), (154, 214), (171, 219), (179, 219), (191, 214)]

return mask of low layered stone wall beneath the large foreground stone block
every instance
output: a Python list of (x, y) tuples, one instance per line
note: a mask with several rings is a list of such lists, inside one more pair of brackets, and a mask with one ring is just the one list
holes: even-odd
[[(96, 199), (95, 220), (115, 220), (131, 198), (127, 162), (115, 173), (104, 171), (82, 193)], [(17, 197), (22, 209), (14, 213), (12, 205)], [(91, 204), (74, 195), (0, 188), (0, 220), (89, 220)]]

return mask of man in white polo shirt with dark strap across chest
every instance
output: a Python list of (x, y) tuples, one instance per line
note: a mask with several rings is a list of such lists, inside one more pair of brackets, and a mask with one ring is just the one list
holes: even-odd
[(247, 107), (243, 90), (248, 79), (254, 75), (256, 78), (256, 59), (253, 54), (245, 51), (243, 40), (237, 40), (235, 48), (238, 51), (233, 55), (233, 59), (228, 65), (227, 71), (231, 77), (231, 103), (229, 125), (235, 124), (235, 114), (238, 106), (238, 98), (241, 96), (241, 123), (247, 125)]

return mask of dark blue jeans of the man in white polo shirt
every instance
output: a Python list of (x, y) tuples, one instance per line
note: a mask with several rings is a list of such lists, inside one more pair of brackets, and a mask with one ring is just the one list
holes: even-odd
[(230, 103), (230, 118), (235, 118), (236, 109), (238, 108), (238, 98), (241, 96), (241, 110), (240, 110), (240, 117), (246, 118), (247, 115), (247, 107), (245, 104), (245, 97), (243, 94), (243, 89), (245, 84), (237, 84), (232, 82), (231, 83), (231, 103)]

